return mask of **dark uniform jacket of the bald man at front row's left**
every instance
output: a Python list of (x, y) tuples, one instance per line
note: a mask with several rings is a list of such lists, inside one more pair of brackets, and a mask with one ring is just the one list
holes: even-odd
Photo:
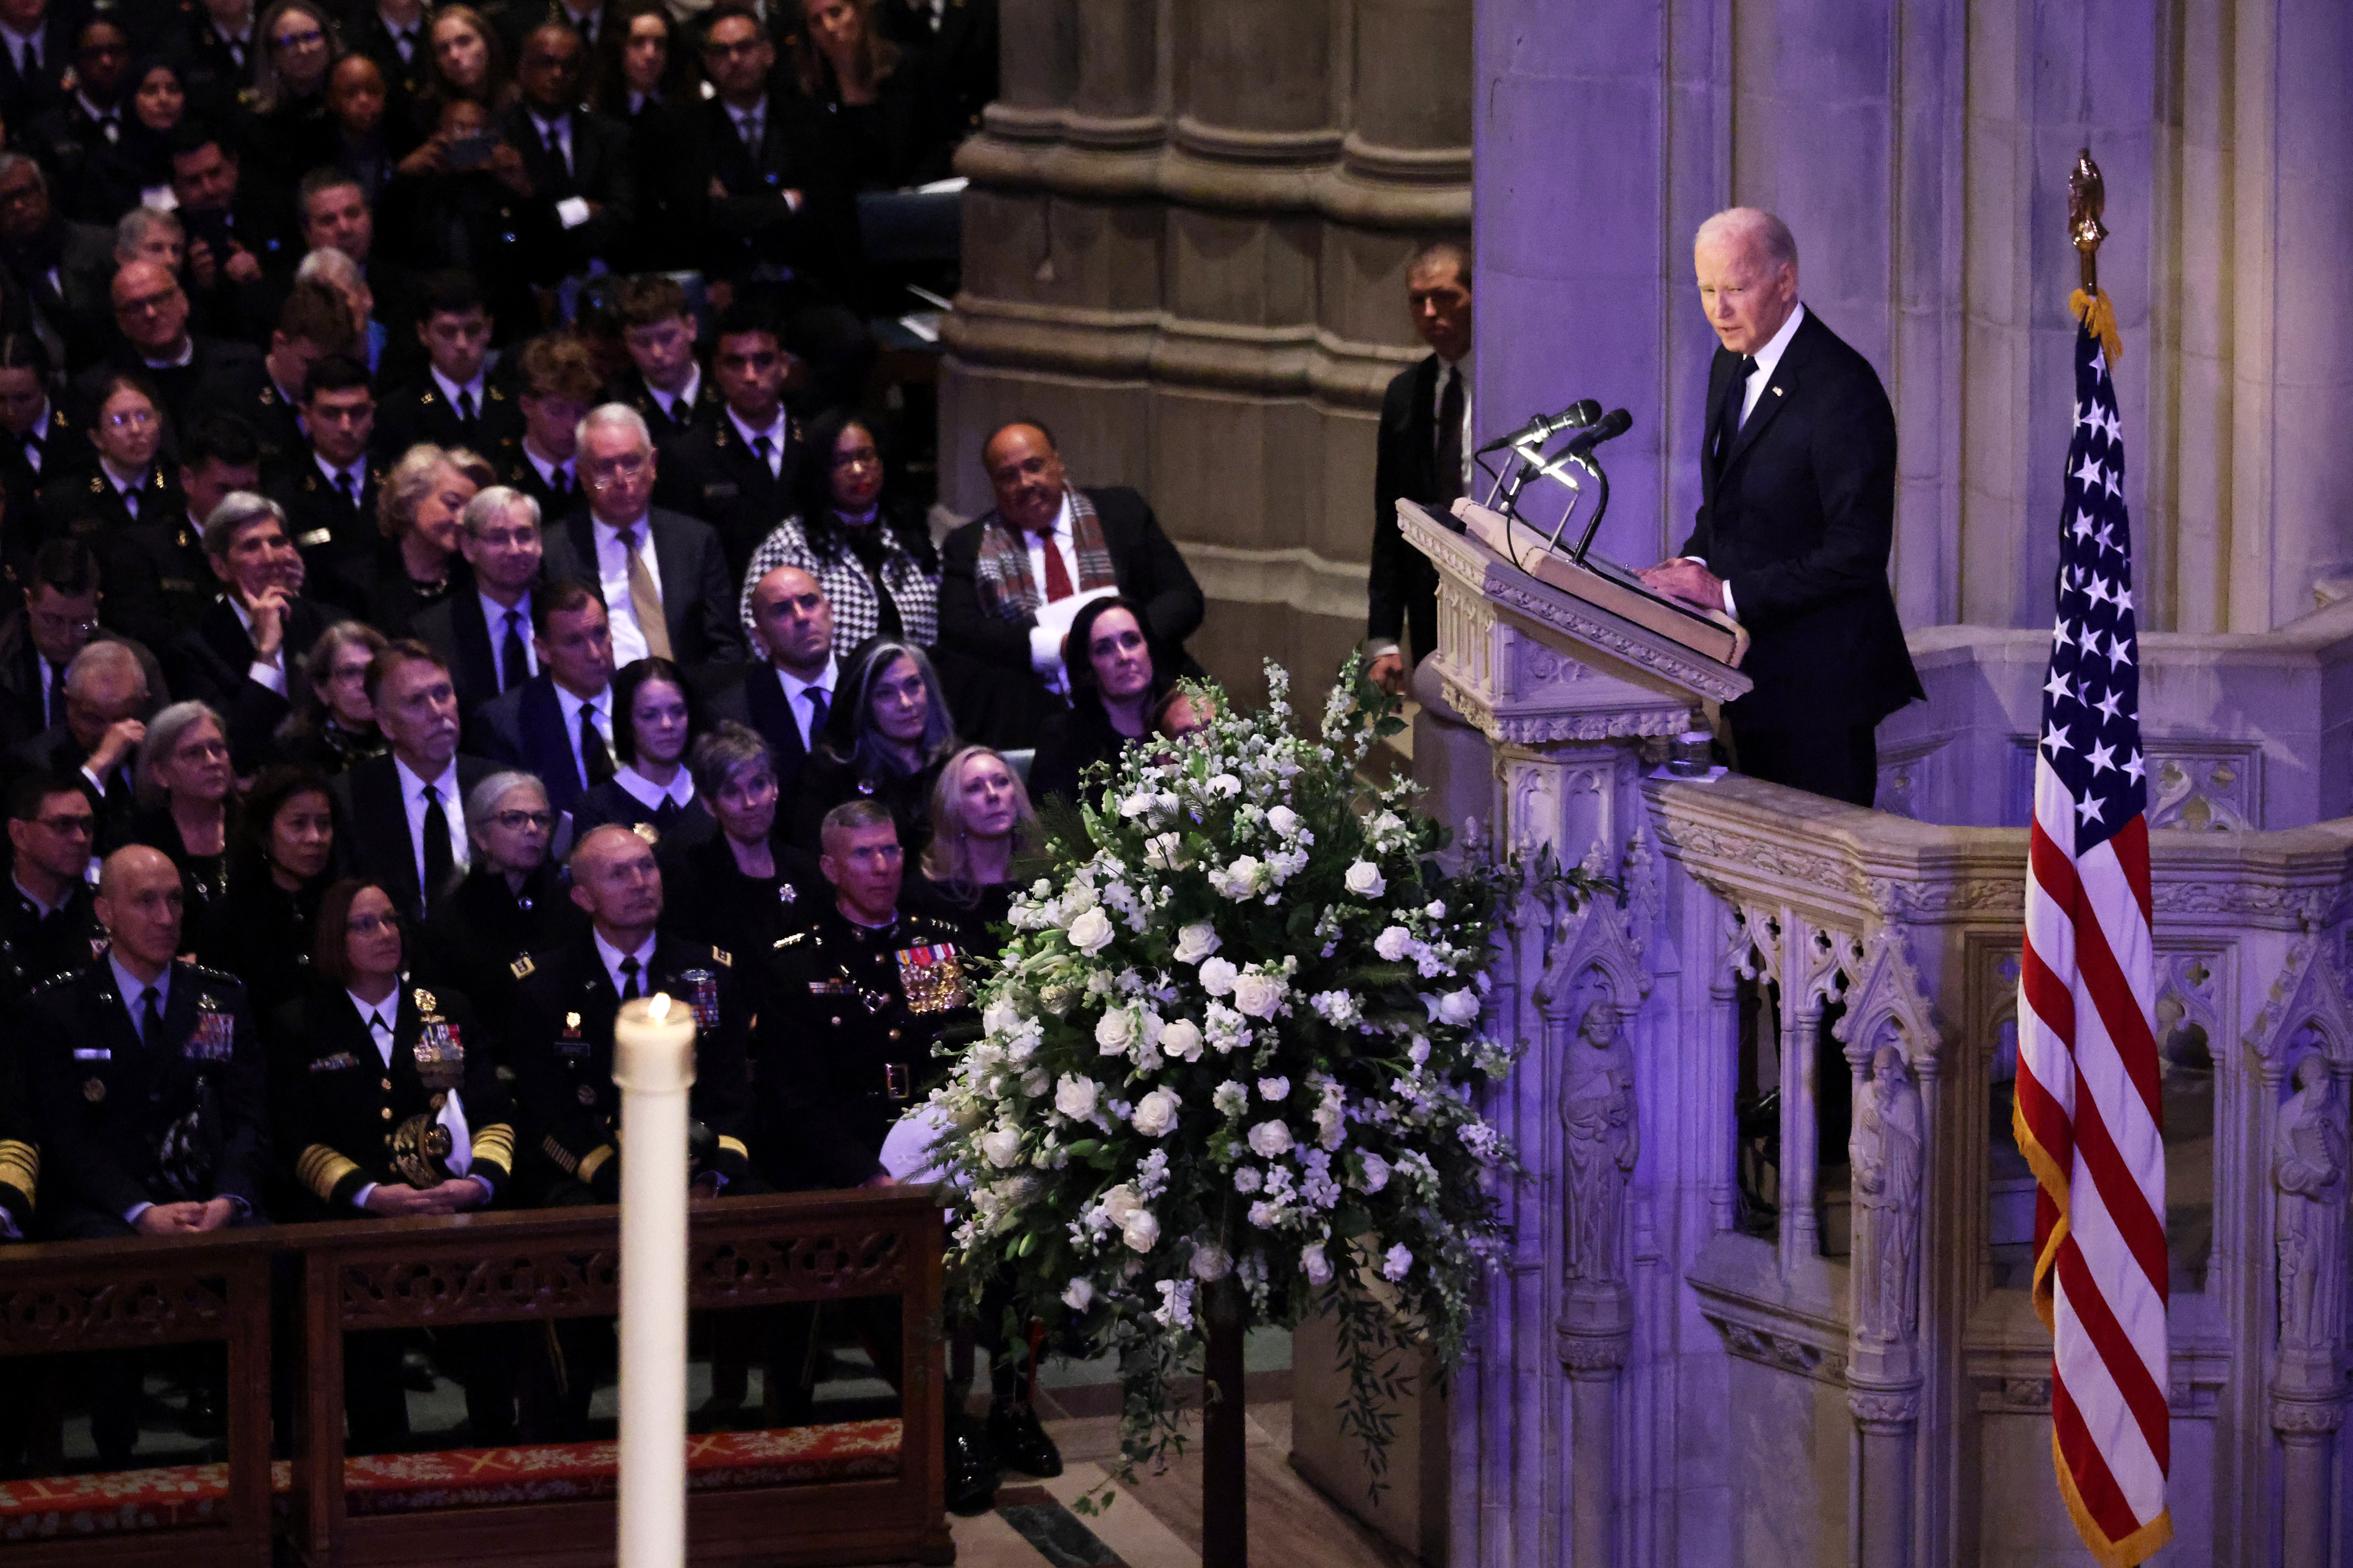
[[(212, 1006), (205, 1006), (205, 1004)], [(228, 1039), (205, 1039), (200, 1013), (226, 1016)], [(221, 1030), (224, 1025), (212, 1025)], [(162, 1039), (144, 1044), (106, 959), (45, 985), (26, 1004), (26, 1077), (40, 1117), (49, 1178), (42, 1208), (120, 1222), (136, 1204), (245, 1199), (261, 1208), (271, 1128), (261, 1039), (245, 985), (195, 964), (172, 964)], [(202, 1110), (200, 1110), (202, 1107)], [(195, 1114), (193, 1190), (174, 1187), (158, 1154)], [(87, 1234), (87, 1232), (85, 1232)]]

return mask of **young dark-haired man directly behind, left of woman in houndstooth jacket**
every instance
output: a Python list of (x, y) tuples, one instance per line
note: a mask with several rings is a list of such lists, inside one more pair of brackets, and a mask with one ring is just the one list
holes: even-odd
[(795, 510), (800, 425), (784, 409), (793, 355), (776, 322), (746, 301), (720, 313), (713, 339), (711, 378), (725, 409), (664, 442), (656, 498), (718, 529), (727, 581), (741, 583), (753, 550)]

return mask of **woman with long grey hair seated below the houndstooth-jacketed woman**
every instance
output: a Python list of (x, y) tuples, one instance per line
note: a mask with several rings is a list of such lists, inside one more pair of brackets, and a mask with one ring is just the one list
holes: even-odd
[(809, 750), (793, 792), (791, 837), (816, 851), (826, 811), (849, 799), (882, 802), (899, 849), (922, 856), (932, 839), (932, 785), (955, 750), (955, 719), (922, 649), (878, 637), (842, 670), (826, 738)]

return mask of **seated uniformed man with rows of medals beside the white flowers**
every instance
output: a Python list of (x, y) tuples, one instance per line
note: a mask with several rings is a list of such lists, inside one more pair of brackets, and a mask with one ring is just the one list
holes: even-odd
[[(882, 1187), (892, 1182), (882, 1140), (946, 1077), (934, 1051), (969, 1020), (972, 990), (955, 926), (899, 910), (906, 858), (885, 806), (835, 806), (821, 844), (816, 865), (833, 884), (833, 905), (807, 931), (781, 938), (765, 973), (753, 1037), (760, 1143), (776, 1154), (779, 1187)], [(791, 1166), (781, 1164), (786, 1150), (798, 1152)], [(984, 1305), (984, 1342), (1000, 1319), (1002, 1307)], [(878, 1359), (889, 1361), (889, 1324), (864, 1328)], [(1024, 1349), (991, 1345), (986, 1446), (962, 1422), (948, 1425), (948, 1507), (960, 1514), (988, 1507), (991, 1460), (1033, 1476), (1061, 1474), (1061, 1453), (1024, 1392)], [(953, 1392), (948, 1408), (962, 1408)]]

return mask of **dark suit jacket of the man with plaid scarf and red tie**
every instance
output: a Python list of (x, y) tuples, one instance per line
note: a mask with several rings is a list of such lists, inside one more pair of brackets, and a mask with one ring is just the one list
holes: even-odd
[[(1094, 503), (1120, 592), (1144, 607), (1146, 630), (1169, 649), (1179, 670), (1195, 672), (1200, 665), (1188, 661), (1184, 639), (1200, 628), (1205, 607), (1184, 555), (1160, 531), (1144, 496), (1125, 484), (1085, 496)], [(939, 583), (939, 675), (955, 708), (955, 731), (998, 750), (1038, 745), (1045, 715), (1066, 705), (1031, 670), (1028, 635), (1038, 618), (1009, 621), (981, 609), (974, 581), (981, 534), (1002, 527), (991, 510), (948, 534)]]

